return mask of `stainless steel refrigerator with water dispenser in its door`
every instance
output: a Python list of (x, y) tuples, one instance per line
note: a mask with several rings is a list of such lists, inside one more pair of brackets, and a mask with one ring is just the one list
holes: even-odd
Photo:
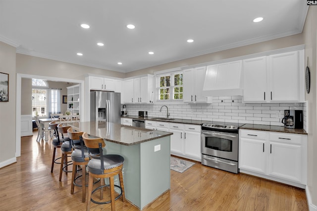
[(121, 93), (90, 92), (90, 121), (121, 123)]

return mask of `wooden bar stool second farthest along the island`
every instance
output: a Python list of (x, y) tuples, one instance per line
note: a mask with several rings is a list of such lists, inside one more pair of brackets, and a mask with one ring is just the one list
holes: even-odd
[(71, 155), (72, 153), (72, 146), (70, 143), (70, 139), (67, 136), (64, 137), (64, 134), (67, 133), (67, 129), (70, 128), (70, 126), (65, 126), (64, 124), (58, 124), (57, 125), (57, 131), (61, 134), (62, 138), (62, 144), (60, 146), (61, 149), (61, 161), (60, 161), (60, 170), (59, 170), (59, 181), (61, 181), (61, 176), (63, 171), (67, 174), (68, 172), (68, 161), (67, 157), (68, 155)]

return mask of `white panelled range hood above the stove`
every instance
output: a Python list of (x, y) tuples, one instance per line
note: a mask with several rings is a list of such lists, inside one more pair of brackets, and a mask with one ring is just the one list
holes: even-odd
[(242, 60), (207, 66), (203, 96), (242, 94)]

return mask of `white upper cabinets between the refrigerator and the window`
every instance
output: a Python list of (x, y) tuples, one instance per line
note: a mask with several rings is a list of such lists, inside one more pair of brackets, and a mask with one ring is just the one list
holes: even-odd
[(147, 75), (123, 81), (123, 103), (153, 103), (154, 76)]

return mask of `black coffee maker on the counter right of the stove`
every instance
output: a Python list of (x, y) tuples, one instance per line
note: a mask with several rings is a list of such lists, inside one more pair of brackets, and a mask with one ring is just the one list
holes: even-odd
[(302, 110), (284, 110), (282, 123), (285, 128), (302, 129), (303, 128), (303, 111)]

